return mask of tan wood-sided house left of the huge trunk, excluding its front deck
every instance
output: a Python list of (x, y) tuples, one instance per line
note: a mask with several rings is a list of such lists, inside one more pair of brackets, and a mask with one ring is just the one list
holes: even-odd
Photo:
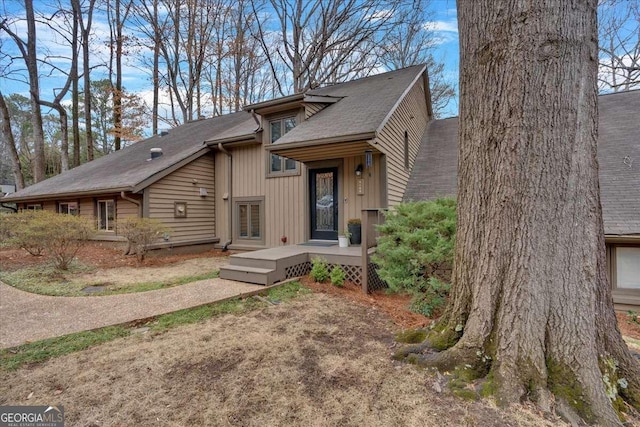
[(413, 66), (199, 120), (4, 197), (19, 209), (118, 220), (157, 218), (164, 246), (236, 250), (336, 241), (362, 209), (402, 200), (431, 119)]

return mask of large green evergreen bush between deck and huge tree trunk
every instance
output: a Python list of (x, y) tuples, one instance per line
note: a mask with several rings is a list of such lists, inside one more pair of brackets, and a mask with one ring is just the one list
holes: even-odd
[(448, 291), (450, 277), (443, 272), (450, 271), (453, 264), (455, 200), (397, 205), (385, 213), (378, 231), (372, 260), (380, 278), (392, 291), (412, 294), (412, 309), (433, 313), (444, 303)]

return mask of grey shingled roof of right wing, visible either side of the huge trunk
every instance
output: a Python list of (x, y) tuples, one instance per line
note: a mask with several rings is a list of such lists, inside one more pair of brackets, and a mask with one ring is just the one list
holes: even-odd
[[(598, 98), (598, 161), (605, 234), (640, 234), (640, 90)], [(429, 124), (404, 199), (455, 196), (458, 118)]]

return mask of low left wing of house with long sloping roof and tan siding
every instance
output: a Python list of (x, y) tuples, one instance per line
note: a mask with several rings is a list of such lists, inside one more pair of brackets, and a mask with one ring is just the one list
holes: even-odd
[(96, 240), (122, 240), (117, 220), (156, 218), (171, 228), (167, 244), (219, 242), (215, 159), (203, 141), (230, 128), (256, 128), (240, 112), (176, 127), (78, 166), (0, 201), (96, 218)]

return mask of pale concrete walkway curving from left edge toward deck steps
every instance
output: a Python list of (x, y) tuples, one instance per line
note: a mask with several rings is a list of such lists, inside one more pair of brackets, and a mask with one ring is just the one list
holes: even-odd
[(0, 282), (0, 349), (145, 319), (263, 289), (260, 285), (210, 279), (132, 294), (52, 297)]

